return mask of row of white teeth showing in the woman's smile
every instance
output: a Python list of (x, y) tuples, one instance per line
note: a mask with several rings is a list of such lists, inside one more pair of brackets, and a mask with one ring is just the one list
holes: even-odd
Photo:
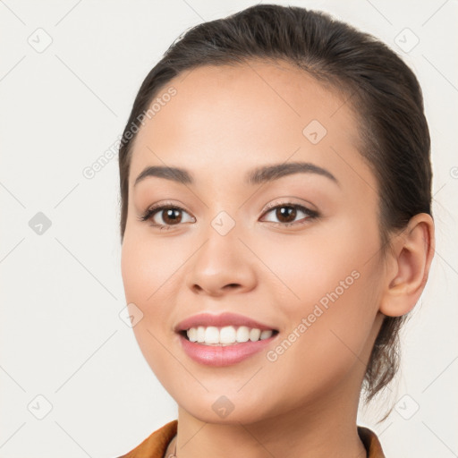
[(241, 326), (235, 329), (233, 326), (226, 327), (191, 327), (186, 332), (191, 342), (199, 342), (206, 345), (232, 345), (236, 343), (256, 342), (258, 340), (268, 339), (273, 330), (261, 331), (256, 327)]

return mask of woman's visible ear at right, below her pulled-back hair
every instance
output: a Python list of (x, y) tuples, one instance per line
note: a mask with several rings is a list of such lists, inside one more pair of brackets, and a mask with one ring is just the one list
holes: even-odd
[(380, 311), (400, 317), (413, 309), (428, 280), (434, 256), (434, 221), (427, 213), (412, 216), (407, 227), (394, 236), (386, 256), (386, 287)]

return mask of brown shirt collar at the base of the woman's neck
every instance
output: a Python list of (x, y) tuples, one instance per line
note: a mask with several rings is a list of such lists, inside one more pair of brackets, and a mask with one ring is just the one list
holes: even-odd
[[(162, 428), (157, 429), (147, 437), (140, 445), (137, 445), (128, 454), (118, 458), (164, 458), (165, 451), (170, 441), (174, 438), (178, 428), (178, 420), (166, 423)], [(361, 442), (366, 447), (367, 458), (385, 458), (382, 445), (377, 435), (369, 428), (358, 427), (358, 434)], [(166, 457), (165, 457), (166, 458)]]

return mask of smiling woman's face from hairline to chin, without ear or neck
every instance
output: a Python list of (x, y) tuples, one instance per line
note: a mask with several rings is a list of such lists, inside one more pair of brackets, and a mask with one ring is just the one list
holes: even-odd
[[(173, 97), (162, 98), (171, 86)], [(385, 271), (377, 183), (356, 149), (346, 98), (286, 64), (264, 63), (200, 67), (157, 98), (133, 148), (122, 250), (149, 366), (205, 421), (353, 405), (381, 325)], [(259, 173), (293, 163), (306, 165)], [(191, 180), (150, 174), (135, 184), (149, 166), (178, 167)], [(166, 208), (141, 221), (155, 204)], [(236, 313), (278, 333), (237, 362), (209, 352), (239, 344), (187, 342), (207, 358), (195, 360), (175, 328), (204, 312)]]

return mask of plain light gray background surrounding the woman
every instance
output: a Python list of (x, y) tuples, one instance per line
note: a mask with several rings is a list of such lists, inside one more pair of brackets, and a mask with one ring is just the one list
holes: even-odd
[[(175, 38), (255, 3), (0, 1), (1, 458), (114, 458), (176, 418), (174, 400), (119, 317), (117, 156), (92, 179), (82, 171), (119, 139), (141, 81)], [(437, 253), (403, 331), (397, 389), (360, 411), (359, 424), (377, 432), (390, 458), (457, 456), (458, 4), (281, 4), (321, 9), (369, 31), (420, 80)], [(396, 44), (414, 44), (406, 28), (420, 39), (408, 53)], [(41, 235), (29, 225), (38, 212), (52, 223)]]

